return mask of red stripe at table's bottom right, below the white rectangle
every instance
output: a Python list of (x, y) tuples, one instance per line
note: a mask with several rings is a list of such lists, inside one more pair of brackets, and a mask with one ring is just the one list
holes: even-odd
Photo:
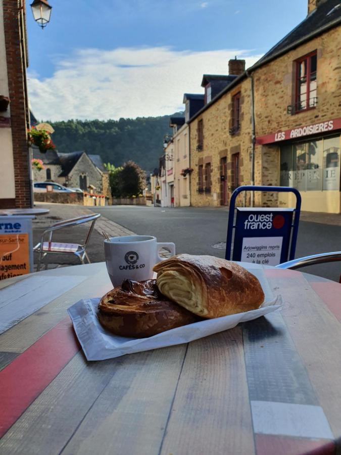
[(335, 444), (327, 439), (290, 438), (256, 434), (257, 455), (334, 455)]

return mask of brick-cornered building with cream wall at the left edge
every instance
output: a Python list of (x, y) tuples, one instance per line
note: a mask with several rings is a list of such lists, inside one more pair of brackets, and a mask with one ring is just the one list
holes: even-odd
[(25, 15), (24, 0), (0, 0), (0, 208), (32, 204)]

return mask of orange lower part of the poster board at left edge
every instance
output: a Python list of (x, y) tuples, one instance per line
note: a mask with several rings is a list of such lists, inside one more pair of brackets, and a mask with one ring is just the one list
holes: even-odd
[(0, 235), (0, 280), (29, 274), (28, 234)]

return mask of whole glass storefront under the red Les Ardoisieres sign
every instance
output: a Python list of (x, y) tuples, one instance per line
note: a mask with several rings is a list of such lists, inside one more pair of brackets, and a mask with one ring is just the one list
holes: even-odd
[(340, 140), (331, 136), (280, 148), (280, 185), (300, 191), (339, 190)]

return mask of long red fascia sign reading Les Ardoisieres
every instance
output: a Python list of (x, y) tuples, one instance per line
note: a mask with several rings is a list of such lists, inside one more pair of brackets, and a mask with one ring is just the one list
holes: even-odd
[(290, 139), (298, 139), (311, 134), (323, 133), (341, 128), (341, 117), (324, 122), (314, 123), (310, 125), (300, 126), (299, 128), (286, 129), (265, 136), (258, 136), (256, 144), (271, 144), (274, 142), (288, 141)]

